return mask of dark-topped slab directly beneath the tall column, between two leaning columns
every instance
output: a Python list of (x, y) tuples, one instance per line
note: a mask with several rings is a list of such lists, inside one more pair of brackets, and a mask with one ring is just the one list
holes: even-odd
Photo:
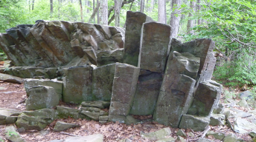
[(132, 103), (131, 115), (153, 115), (159, 98), (162, 73), (141, 70)]

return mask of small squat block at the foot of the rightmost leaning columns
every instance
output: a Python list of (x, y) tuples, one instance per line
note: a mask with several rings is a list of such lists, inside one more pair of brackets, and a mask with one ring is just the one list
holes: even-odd
[(210, 119), (207, 117), (198, 117), (193, 115), (182, 115), (179, 123), (181, 129), (193, 129), (194, 131), (203, 131), (208, 126)]

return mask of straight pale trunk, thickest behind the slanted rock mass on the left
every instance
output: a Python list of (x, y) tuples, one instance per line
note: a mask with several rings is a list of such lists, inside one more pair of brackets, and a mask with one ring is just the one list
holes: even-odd
[(108, 1), (101, 0), (100, 3), (100, 24), (108, 25)]

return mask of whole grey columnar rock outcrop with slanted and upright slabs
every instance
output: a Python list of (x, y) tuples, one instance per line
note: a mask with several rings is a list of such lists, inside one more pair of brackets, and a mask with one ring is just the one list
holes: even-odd
[[(45, 107), (56, 106), (59, 98), (82, 103), (85, 108), (76, 110), (74, 118), (83, 115), (130, 124), (132, 115), (153, 115), (160, 124), (203, 130), (222, 90), (211, 81), (214, 41), (202, 38), (182, 43), (171, 38), (171, 33), (169, 25), (131, 11), (125, 31), (68, 21), (22, 24), (0, 34), (0, 47), (13, 65), (1, 72), (22, 78), (63, 77), (63, 81), (27, 79), (26, 90), (34, 93), (28, 96), (29, 109), (38, 109), (32, 104), (36, 104), (35, 96), (42, 95), (36, 95), (40, 89), (48, 90), (46, 94), (55, 92), (40, 100)], [(33, 88), (33, 82), (37, 87)], [(108, 102), (109, 113), (100, 106), (94, 108), (98, 101)]]

